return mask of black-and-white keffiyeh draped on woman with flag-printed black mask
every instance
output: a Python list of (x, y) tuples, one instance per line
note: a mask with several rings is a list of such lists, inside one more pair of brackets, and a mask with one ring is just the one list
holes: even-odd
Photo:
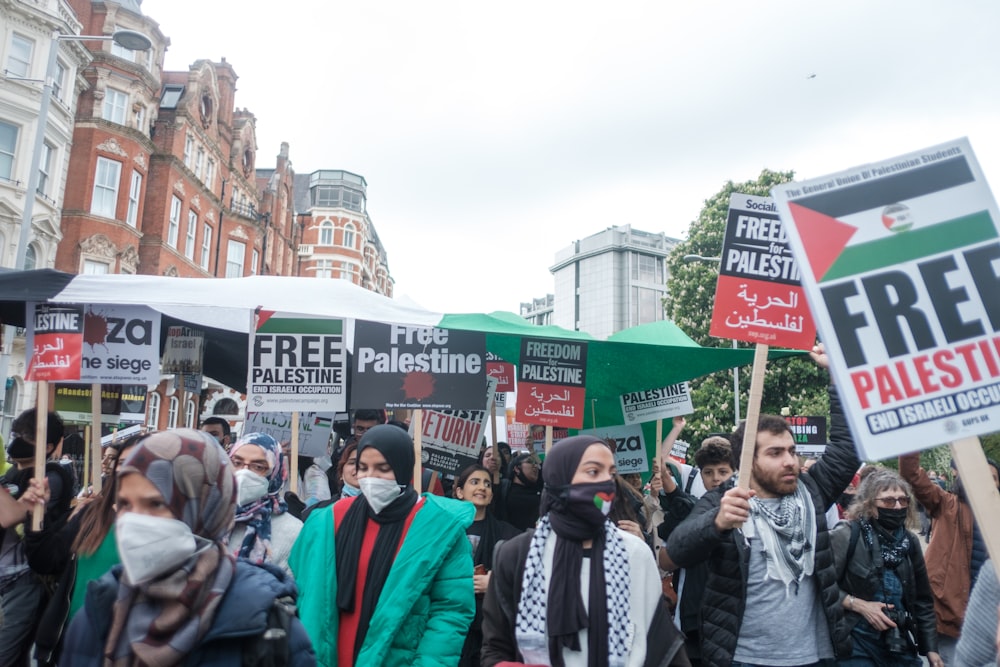
[[(542, 517), (528, 548), (528, 557), (521, 581), (521, 599), (517, 605), (517, 626), (515, 635), (517, 646), (528, 663), (549, 664), (550, 637), (547, 633), (549, 576), (545, 571), (545, 541), (552, 532), (548, 515)], [(556, 539), (559, 539), (558, 537)], [(598, 553), (598, 550), (602, 550)], [(594, 540), (594, 555), (591, 568), (601, 567), (604, 591), (590, 591), (594, 595), (605, 595), (607, 609), (607, 661), (603, 656), (589, 653), (589, 664), (623, 667), (628, 657), (629, 619), (631, 616), (629, 598), (629, 560), (625, 541), (618, 529), (611, 523), (604, 524), (603, 539)], [(594, 580), (593, 570), (591, 581)], [(568, 603), (568, 601), (567, 601)], [(593, 603), (591, 603), (592, 605)], [(591, 633), (594, 634), (594, 633)], [(555, 638), (551, 638), (552, 641)], [(600, 642), (603, 644), (604, 642)], [(560, 651), (561, 655), (561, 651)], [(557, 663), (559, 661), (557, 659)]]

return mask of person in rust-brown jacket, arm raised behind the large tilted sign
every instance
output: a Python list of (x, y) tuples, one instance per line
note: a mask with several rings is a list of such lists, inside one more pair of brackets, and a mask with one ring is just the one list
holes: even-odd
[[(993, 483), (1000, 488), (1000, 466), (993, 460), (989, 463)], [(962, 480), (957, 472), (952, 474), (955, 492), (949, 493), (920, 467), (920, 454), (899, 457), (900, 477), (910, 483), (917, 502), (933, 521), (924, 560), (934, 594), (939, 653), (945, 665), (956, 664), (955, 646), (962, 634), (965, 606), (979, 568), (987, 558), (986, 543), (972, 516)]]

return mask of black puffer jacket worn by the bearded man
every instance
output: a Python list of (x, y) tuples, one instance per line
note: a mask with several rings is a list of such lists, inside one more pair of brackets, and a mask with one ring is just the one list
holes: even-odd
[[(816, 557), (813, 582), (823, 602), (830, 639), (837, 657), (851, 652), (850, 630), (844, 621), (834, 567), (826, 510), (850, 483), (860, 466), (854, 440), (844, 419), (840, 397), (830, 388), (830, 444), (808, 473), (799, 477), (816, 511)], [(746, 608), (749, 549), (742, 531), (719, 532), (715, 517), (725, 489), (706, 493), (691, 515), (670, 536), (667, 551), (679, 567), (708, 564), (708, 582), (702, 599), (702, 661), (726, 667), (733, 661)], [(780, 623), (781, 619), (774, 619)]]

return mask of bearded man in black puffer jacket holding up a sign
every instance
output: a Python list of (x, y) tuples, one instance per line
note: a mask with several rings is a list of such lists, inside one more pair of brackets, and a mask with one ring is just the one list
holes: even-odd
[[(821, 346), (813, 359), (824, 368)], [(734, 435), (743, 442), (745, 424)], [(739, 452), (734, 452), (739, 460)], [(819, 665), (850, 653), (826, 510), (859, 461), (840, 398), (830, 388), (830, 444), (805, 474), (788, 423), (761, 415), (750, 488), (706, 493), (667, 541), (680, 567), (705, 562), (702, 663)]]

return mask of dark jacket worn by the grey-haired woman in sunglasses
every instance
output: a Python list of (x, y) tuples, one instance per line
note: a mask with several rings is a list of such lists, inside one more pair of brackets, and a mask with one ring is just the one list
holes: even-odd
[[(864, 537), (858, 535), (854, 553), (851, 554), (851, 561), (848, 563), (851, 530), (852, 524), (844, 521), (834, 528), (830, 535), (837, 575), (840, 579), (841, 598), (853, 595), (859, 600), (874, 600), (876, 593), (882, 590), (884, 568), (878, 534), (874, 535), (875, 542), (871, 548), (865, 544)], [(854, 530), (860, 532), (861, 529), (858, 527)], [(920, 539), (909, 531), (906, 537), (910, 541), (910, 550), (907, 552), (907, 557), (896, 566), (896, 575), (903, 583), (903, 606), (916, 622), (914, 638), (917, 641), (917, 651), (921, 655), (927, 655), (931, 651), (937, 653), (938, 640), (935, 628), (937, 619), (934, 616), (931, 583), (927, 579), (927, 565), (920, 549)], [(847, 612), (847, 627), (851, 630), (860, 620), (861, 614)]]

